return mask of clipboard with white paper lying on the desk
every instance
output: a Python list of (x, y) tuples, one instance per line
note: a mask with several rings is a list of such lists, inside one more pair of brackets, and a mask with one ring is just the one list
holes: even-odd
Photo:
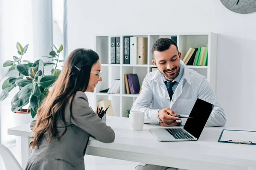
[(256, 131), (223, 129), (218, 142), (256, 145)]

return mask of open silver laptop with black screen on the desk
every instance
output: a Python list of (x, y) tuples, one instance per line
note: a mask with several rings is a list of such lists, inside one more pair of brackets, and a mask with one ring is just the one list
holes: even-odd
[(183, 128), (154, 128), (149, 129), (160, 142), (164, 141), (196, 141), (199, 139), (204, 126), (209, 119), (214, 105), (197, 99)]

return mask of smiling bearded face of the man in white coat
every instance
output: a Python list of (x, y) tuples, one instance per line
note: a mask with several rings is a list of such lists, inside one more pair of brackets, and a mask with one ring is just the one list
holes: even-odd
[(154, 51), (153, 64), (166, 77), (168, 81), (174, 80), (180, 73), (181, 53), (175, 45), (170, 45), (166, 51)]

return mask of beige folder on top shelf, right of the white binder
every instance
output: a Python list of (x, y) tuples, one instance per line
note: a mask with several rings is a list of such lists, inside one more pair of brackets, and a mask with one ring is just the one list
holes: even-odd
[(137, 64), (148, 62), (148, 38), (137, 37)]

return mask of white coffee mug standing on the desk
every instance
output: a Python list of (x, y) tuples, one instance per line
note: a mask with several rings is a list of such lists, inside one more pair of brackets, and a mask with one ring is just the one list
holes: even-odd
[(130, 111), (129, 120), (133, 130), (142, 130), (144, 125), (144, 111)]

